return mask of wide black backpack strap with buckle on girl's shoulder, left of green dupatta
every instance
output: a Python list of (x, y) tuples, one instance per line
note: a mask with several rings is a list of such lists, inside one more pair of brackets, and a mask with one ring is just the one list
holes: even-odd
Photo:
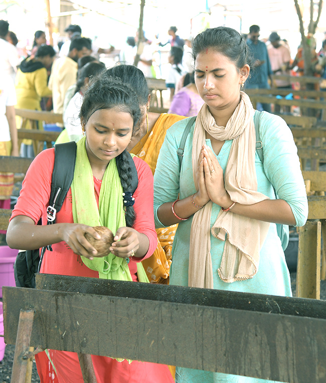
[(47, 209), (48, 223), (54, 223), (74, 178), (77, 146), (74, 141), (54, 146), (51, 195)]

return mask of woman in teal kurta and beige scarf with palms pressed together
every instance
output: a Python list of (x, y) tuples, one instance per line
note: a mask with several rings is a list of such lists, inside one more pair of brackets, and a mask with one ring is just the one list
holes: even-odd
[[(193, 53), (205, 105), (187, 137), (181, 168), (177, 150), (187, 119), (168, 130), (154, 174), (156, 227), (179, 223), (170, 283), (291, 296), (275, 223), (302, 226), (308, 213), (291, 131), (279, 116), (255, 111), (240, 91), (251, 61), (237, 31), (207, 29), (194, 39)], [(255, 151), (255, 125), (263, 163)], [(194, 381), (266, 383), (177, 367), (176, 383)]]

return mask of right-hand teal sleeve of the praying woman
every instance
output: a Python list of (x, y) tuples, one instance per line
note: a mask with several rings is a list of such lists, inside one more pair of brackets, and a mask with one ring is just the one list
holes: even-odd
[(263, 143), (264, 172), (278, 198), (290, 205), (295, 226), (303, 226), (308, 216), (308, 202), (291, 130), (283, 118), (262, 112), (259, 132)]

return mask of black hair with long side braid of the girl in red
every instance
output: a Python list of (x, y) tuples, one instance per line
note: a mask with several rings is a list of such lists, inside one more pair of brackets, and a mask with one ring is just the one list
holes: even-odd
[[(141, 112), (139, 101), (135, 91), (119, 78), (103, 76), (101, 73), (95, 76), (87, 91), (85, 92), (79, 117), (86, 124), (89, 117), (99, 109), (111, 109), (117, 107), (120, 111), (129, 113), (133, 119), (132, 135), (139, 129)], [(131, 191), (132, 170), (129, 166), (127, 156), (130, 154), (124, 150), (115, 158), (123, 192)], [(121, 196), (122, 198), (122, 196)], [(126, 225), (132, 227), (135, 221), (133, 206), (125, 205)]]

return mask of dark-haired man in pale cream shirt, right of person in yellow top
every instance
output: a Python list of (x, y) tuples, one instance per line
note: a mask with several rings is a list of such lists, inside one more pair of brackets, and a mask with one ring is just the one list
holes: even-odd
[(76, 82), (77, 61), (91, 54), (91, 41), (79, 37), (70, 44), (68, 56), (59, 57), (52, 66), (49, 88), (52, 89), (53, 111), (63, 113), (63, 103), (67, 89)]

